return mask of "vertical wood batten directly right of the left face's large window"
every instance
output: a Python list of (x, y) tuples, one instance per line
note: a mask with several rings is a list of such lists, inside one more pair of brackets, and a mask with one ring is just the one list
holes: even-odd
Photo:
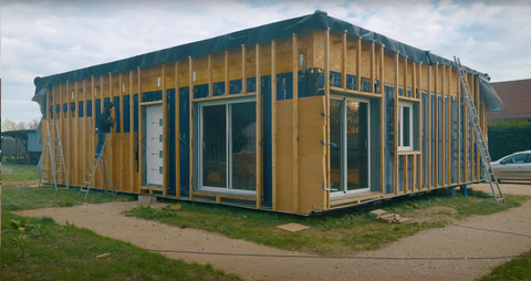
[(262, 83), (260, 75), (260, 44), (256, 44), (257, 51), (257, 156), (256, 156), (256, 173), (257, 173), (257, 209), (262, 208)]

